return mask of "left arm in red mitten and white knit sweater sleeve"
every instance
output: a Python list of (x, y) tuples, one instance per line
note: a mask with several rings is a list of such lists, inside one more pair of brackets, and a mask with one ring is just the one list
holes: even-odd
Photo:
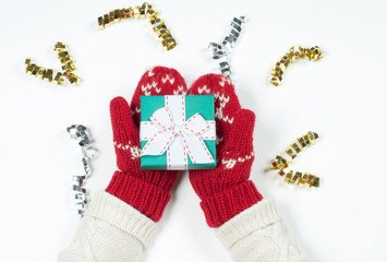
[(176, 171), (140, 168), (140, 96), (182, 95), (186, 86), (173, 69), (156, 67), (143, 75), (131, 106), (110, 103), (118, 171), (106, 191), (95, 193), (70, 247), (59, 262), (135, 262), (147, 246), (170, 199)]

